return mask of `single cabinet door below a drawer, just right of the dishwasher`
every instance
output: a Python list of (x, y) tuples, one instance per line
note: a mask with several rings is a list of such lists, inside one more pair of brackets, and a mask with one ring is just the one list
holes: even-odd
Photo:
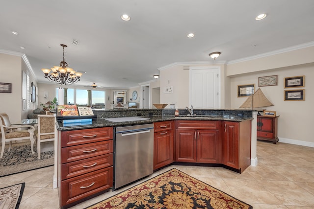
[(154, 170), (173, 163), (174, 131), (167, 130), (154, 134)]

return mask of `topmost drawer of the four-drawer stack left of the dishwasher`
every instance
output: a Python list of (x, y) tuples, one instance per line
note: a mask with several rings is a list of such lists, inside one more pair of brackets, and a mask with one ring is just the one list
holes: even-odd
[(61, 147), (113, 139), (113, 127), (61, 132)]

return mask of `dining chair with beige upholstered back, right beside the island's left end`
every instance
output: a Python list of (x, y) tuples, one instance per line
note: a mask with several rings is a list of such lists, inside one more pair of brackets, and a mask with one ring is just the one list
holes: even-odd
[(37, 151), (40, 159), (41, 143), (54, 141), (55, 117), (54, 115), (38, 115)]

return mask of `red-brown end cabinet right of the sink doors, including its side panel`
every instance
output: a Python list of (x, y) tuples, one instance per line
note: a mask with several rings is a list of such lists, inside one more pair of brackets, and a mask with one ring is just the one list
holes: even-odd
[(251, 120), (224, 121), (223, 164), (243, 172), (251, 163)]

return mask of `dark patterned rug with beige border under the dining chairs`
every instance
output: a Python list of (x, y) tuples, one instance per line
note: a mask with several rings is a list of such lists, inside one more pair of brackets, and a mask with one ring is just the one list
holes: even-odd
[(3, 158), (0, 159), (0, 177), (54, 164), (54, 151), (42, 152), (40, 160), (38, 160), (36, 144), (34, 151), (35, 154), (32, 155), (30, 142), (12, 144), (10, 152), (8, 152), (8, 145), (5, 145)]

